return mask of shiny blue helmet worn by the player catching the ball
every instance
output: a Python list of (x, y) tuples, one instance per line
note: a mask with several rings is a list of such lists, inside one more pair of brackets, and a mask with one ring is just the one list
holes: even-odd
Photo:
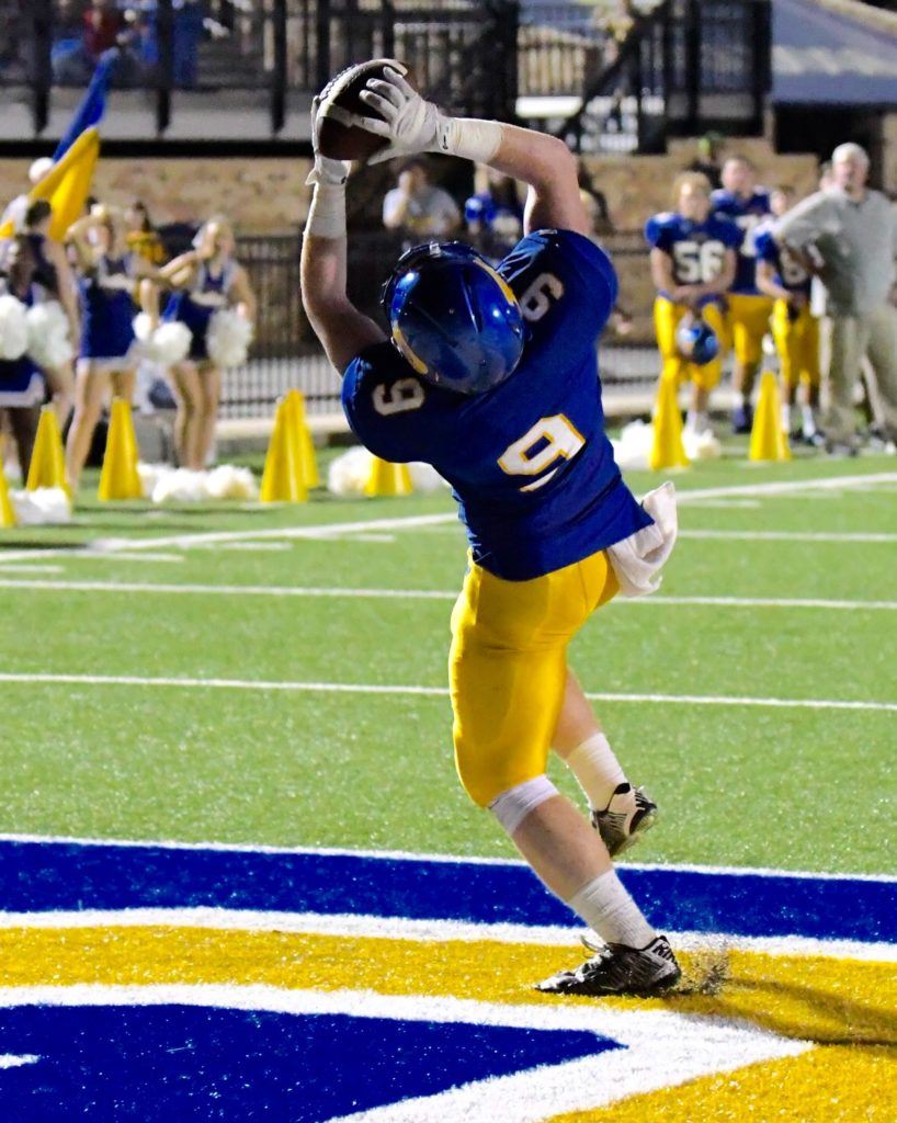
[(461, 394), (504, 382), (523, 353), (523, 313), (511, 286), (460, 241), (403, 254), (384, 286), (383, 310), (413, 369)]

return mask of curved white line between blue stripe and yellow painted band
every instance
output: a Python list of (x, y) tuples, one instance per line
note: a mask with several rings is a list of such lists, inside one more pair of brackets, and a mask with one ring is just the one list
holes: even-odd
[[(579, 947), (582, 925), (487, 924), (467, 921), (409, 920), (356, 913), (291, 913), (251, 909), (88, 909), (83, 911), (0, 912), (0, 929), (198, 928), (217, 932), (286, 932), (368, 940), (417, 940), (425, 943), (525, 943)], [(683, 951), (748, 951), (765, 956), (854, 959), (897, 962), (897, 944), (860, 940), (824, 940), (802, 935), (742, 937), (727, 933), (676, 932), (667, 929)]]

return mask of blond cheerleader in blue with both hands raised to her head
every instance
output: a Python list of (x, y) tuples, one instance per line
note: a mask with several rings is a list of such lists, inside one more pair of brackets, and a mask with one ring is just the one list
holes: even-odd
[(75, 373), (75, 412), (65, 446), (68, 486), (74, 493), (111, 386), (131, 401), (138, 362), (134, 335), (135, 300), (153, 314), (153, 267), (128, 252), (123, 226), (102, 204), (66, 234), (79, 273), (81, 345)]

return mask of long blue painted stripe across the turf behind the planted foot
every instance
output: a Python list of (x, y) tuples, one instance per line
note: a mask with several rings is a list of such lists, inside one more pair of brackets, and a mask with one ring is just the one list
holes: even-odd
[[(674, 932), (897, 942), (897, 883), (620, 869)], [(0, 911), (246, 909), (580, 926), (523, 866), (332, 853), (0, 841)]]

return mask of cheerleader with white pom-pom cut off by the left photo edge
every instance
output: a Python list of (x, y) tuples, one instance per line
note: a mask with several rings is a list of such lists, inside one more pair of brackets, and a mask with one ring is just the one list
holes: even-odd
[(29, 240), (16, 235), (7, 246), (0, 270), (0, 409), (9, 418), (22, 481), (28, 477), (45, 393), (40, 369), (26, 354), (26, 309), (43, 295), (34, 280), (38, 271)]

